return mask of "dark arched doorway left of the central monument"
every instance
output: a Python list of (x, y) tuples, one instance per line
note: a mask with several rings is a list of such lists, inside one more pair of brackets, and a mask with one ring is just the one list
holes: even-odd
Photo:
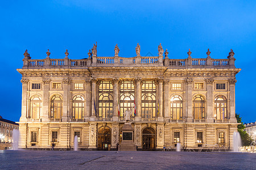
[(98, 150), (108, 151), (111, 145), (111, 131), (109, 128), (101, 128), (98, 131)]

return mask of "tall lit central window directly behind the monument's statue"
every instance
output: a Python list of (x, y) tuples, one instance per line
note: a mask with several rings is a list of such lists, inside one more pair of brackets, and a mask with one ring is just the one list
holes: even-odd
[(134, 116), (134, 84), (131, 81), (122, 81), (120, 86), (120, 117), (129, 109)]

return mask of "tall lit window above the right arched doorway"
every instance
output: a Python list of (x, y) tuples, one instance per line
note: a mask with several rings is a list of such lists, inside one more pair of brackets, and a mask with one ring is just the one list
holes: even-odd
[(142, 117), (156, 117), (156, 86), (155, 82), (143, 82), (142, 85)]

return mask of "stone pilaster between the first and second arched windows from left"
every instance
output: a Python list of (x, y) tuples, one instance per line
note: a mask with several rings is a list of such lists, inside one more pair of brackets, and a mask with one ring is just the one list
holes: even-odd
[(43, 122), (49, 120), (49, 83), (50, 79), (43, 79), (43, 107), (42, 107), (42, 118)]

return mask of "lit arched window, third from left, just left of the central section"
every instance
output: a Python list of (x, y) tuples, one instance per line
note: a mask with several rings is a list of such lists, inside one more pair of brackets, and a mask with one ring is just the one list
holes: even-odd
[(84, 97), (76, 95), (73, 97), (73, 115), (72, 118), (84, 118)]

